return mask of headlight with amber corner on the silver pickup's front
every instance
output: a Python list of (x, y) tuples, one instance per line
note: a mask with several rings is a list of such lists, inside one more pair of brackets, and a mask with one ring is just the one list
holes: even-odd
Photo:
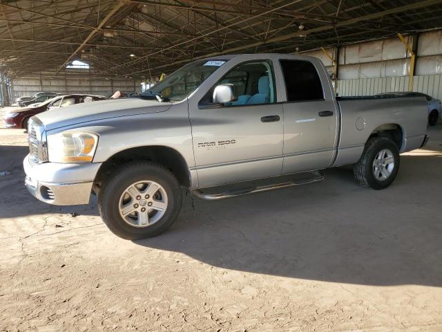
[(97, 149), (98, 135), (65, 131), (48, 136), (48, 158), (52, 163), (90, 163)]

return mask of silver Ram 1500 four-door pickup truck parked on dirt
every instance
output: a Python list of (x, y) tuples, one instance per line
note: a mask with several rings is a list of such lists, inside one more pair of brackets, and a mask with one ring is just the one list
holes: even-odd
[(323, 179), (354, 165), (376, 190), (427, 140), (425, 98), (336, 98), (323, 64), (282, 54), (191, 62), (138, 98), (47, 111), (29, 124), (26, 186), (55, 205), (98, 196), (124, 239), (164, 232), (181, 187), (222, 199)]

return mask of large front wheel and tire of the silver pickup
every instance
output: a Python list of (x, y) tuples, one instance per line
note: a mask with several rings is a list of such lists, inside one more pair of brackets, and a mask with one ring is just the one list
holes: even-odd
[(106, 178), (98, 195), (98, 210), (117, 237), (155, 237), (166, 231), (180, 212), (182, 196), (175, 176), (151, 162), (121, 165)]

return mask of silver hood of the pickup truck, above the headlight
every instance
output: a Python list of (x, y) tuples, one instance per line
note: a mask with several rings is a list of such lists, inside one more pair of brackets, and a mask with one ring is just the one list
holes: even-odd
[(171, 102), (158, 102), (157, 100), (142, 100), (139, 98), (120, 98), (50, 109), (49, 111), (40, 113), (37, 117), (43, 122), (46, 130), (51, 130), (81, 122), (163, 112), (171, 106)]

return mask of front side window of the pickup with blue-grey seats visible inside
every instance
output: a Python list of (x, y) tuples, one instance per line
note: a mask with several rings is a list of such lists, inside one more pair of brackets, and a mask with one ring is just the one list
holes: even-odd
[(269, 61), (244, 62), (219, 80), (200, 100), (200, 106), (213, 104), (213, 90), (219, 84), (233, 84), (237, 99), (217, 107), (233, 107), (276, 102), (273, 67)]

